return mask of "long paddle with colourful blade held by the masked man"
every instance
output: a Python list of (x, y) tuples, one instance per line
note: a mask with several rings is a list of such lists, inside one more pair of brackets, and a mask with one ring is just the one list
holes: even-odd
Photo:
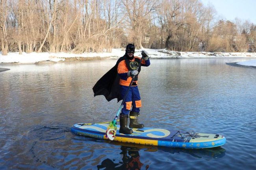
[[(137, 71), (138, 71), (138, 69), (139, 69), (139, 66), (141, 65), (141, 61), (142, 61), (142, 58), (143, 58), (143, 55), (144, 55), (144, 51), (141, 52), (141, 55), (142, 55), (142, 57), (141, 57), (141, 59), (139, 60), (139, 64), (138, 64), (137, 69), (136, 69)], [(122, 110), (122, 107), (123, 107), (123, 104), (124, 104), (124, 100), (125, 100), (125, 98), (126, 98), (126, 96), (127, 96), (127, 94), (128, 94), (128, 91), (129, 91), (131, 85), (132, 85), (132, 82), (134, 81), (134, 78), (135, 78), (135, 75), (132, 77), (132, 80), (131, 80), (131, 82), (130, 82), (130, 85), (129, 85), (129, 87), (128, 87), (128, 89), (127, 89), (125, 95), (124, 95), (124, 98), (122, 99), (122, 103), (121, 103), (119, 109), (117, 110), (117, 114), (116, 114), (115, 118), (113, 119), (112, 122), (110, 122), (110, 124), (108, 125), (108, 128), (107, 128), (107, 130), (106, 130), (105, 136), (106, 136), (107, 139), (109, 139), (109, 140), (111, 140), (111, 141), (114, 140), (115, 134), (117, 133), (117, 126), (116, 126), (116, 124), (117, 124), (117, 118), (118, 118), (118, 116), (119, 116), (119, 113), (120, 113), (121, 110)]]

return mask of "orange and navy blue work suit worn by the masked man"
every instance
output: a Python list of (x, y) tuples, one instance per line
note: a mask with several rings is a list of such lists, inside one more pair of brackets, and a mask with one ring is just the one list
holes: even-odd
[[(129, 60), (126, 58), (125, 60), (122, 60), (119, 62), (117, 66), (117, 73), (120, 77), (120, 93), (122, 96), (122, 99), (124, 98), (124, 95), (126, 91), (128, 90), (128, 87), (130, 85), (130, 82), (132, 81), (132, 77), (127, 77), (128, 71), (132, 71), (137, 69), (137, 66), (139, 65), (140, 58), (137, 56), (134, 56), (132, 60)], [(150, 61), (143, 60), (141, 61), (141, 66), (149, 66)], [(141, 68), (139, 67), (140, 71)], [(137, 81), (138, 81), (138, 75), (135, 76), (134, 81), (132, 82), (132, 86), (130, 87), (126, 98), (124, 99), (124, 107), (122, 108), (122, 114), (128, 115), (131, 108), (133, 112), (139, 113), (139, 108), (141, 108), (141, 97), (139, 95), (139, 89), (137, 87)]]

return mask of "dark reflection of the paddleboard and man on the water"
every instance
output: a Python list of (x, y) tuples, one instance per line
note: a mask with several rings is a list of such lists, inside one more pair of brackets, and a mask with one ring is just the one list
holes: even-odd
[[(74, 140), (86, 140), (88, 141), (87, 137), (78, 137), (72, 138)], [(90, 139), (94, 142), (103, 142), (98, 141), (96, 139)], [(130, 143), (119, 143), (115, 141), (105, 141), (105, 143), (113, 144), (115, 146), (120, 146), (121, 152), (120, 158), (121, 160), (111, 160), (109, 158), (104, 159), (100, 165), (97, 165), (98, 169), (105, 168), (104, 170), (131, 170), (137, 169), (140, 170), (142, 166), (148, 169), (150, 166), (140, 161), (140, 150), (145, 152), (143, 155), (147, 155), (147, 152), (156, 153), (157, 152), (166, 152), (169, 154), (189, 154), (195, 158), (199, 159), (219, 159), (225, 155), (226, 150), (221, 147), (217, 148), (208, 148), (208, 149), (184, 149), (184, 148), (165, 148), (161, 146), (147, 146), (147, 145), (139, 145), (139, 144), (130, 144)]]

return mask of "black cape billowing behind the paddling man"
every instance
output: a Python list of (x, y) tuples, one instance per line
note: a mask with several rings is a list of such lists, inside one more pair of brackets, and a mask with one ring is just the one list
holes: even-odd
[(117, 73), (117, 66), (119, 62), (125, 60), (125, 55), (117, 60), (117, 63), (104, 76), (102, 76), (93, 86), (94, 97), (97, 95), (104, 95), (107, 101), (117, 98), (117, 102), (122, 100), (119, 90), (120, 77)]

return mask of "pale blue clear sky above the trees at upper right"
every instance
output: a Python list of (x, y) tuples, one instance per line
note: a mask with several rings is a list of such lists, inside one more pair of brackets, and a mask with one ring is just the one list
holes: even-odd
[(256, 24), (256, 0), (201, 0), (204, 5), (211, 3), (220, 19), (235, 21), (235, 18), (249, 20)]

